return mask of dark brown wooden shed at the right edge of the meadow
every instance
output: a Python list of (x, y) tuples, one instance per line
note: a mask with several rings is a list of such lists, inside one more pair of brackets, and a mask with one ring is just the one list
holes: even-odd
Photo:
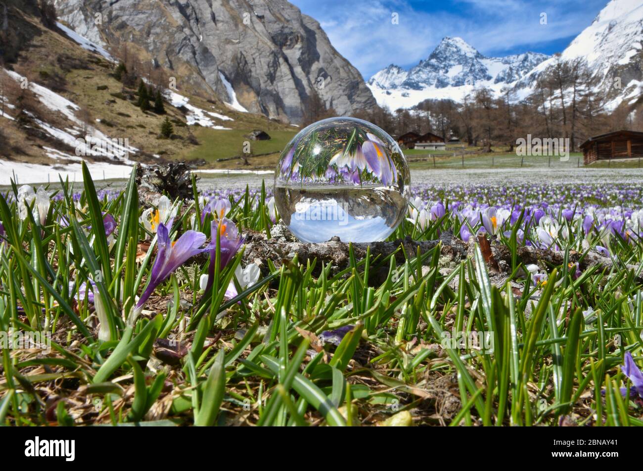
[(590, 137), (581, 144), (583, 163), (597, 160), (643, 157), (643, 133), (638, 131), (613, 131)]

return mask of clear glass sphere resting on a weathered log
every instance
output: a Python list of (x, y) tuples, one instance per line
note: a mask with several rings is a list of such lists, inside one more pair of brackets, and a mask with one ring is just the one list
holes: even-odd
[(385, 131), (356, 118), (329, 118), (286, 145), (275, 203), (300, 241), (383, 241), (404, 219), (410, 180), (404, 154)]

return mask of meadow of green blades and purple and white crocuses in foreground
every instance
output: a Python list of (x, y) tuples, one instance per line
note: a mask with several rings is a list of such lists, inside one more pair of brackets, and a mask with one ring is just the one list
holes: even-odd
[(643, 425), (640, 185), (412, 187), (396, 250), (332, 253), (269, 184), (97, 186), (0, 198), (0, 337), (54, 343), (3, 350), (3, 425)]

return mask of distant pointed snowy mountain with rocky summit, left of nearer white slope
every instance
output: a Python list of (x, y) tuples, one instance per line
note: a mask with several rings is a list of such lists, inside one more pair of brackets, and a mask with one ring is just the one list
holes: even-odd
[(459, 37), (445, 37), (408, 72), (391, 64), (368, 80), (378, 104), (410, 107), (427, 98), (460, 101), (475, 86), (496, 92), (523, 77), (548, 56), (526, 52), (507, 57), (485, 57)]

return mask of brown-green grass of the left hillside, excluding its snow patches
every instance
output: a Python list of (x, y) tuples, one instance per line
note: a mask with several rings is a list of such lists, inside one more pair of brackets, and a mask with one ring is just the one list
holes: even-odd
[[(132, 160), (152, 163), (181, 159), (211, 167), (217, 158), (229, 158), (240, 154), (243, 142), (248, 140), (244, 136), (253, 129), (262, 129), (273, 137), (265, 142), (253, 141), (251, 148), (254, 154), (278, 153), (296, 133), (296, 128), (291, 125), (270, 120), (266, 116), (230, 109), (217, 97), (205, 97), (203, 90), (192, 90), (186, 82), (180, 81), (176, 93), (187, 98), (184, 102), (187, 101), (189, 106), (199, 109), (199, 112), (210, 120), (211, 125), (230, 129), (188, 125), (188, 122), (192, 122), (189, 115), (193, 114), (194, 110), (178, 104), (178, 107), (174, 107), (168, 100), (165, 100), (165, 114), (143, 112), (136, 104), (137, 86), (125, 86), (114, 77), (116, 61), (120, 59), (108, 60), (98, 53), (82, 48), (59, 28), (44, 26), (41, 17), (15, 2), (10, 2), (8, 8), (12, 26), (26, 33), (22, 41), (14, 41), (17, 52), (12, 54), (12, 60), (5, 61), (4, 68), (26, 77), (30, 84), (50, 89), (76, 104), (80, 109), (75, 111), (75, 118), (95, 127), (100, 133), (109, 138), (127, 138), (129, 145), (138, 149), (138, 152), (130, 155)], [(143, 70), (145, 69), (141, 66), (139, 76), (150, 76), (149, 70), (147, 74), (143, 73)], [(178, 75), (176, 71), (164, 70), (152, 73), (167, 77)], [(39, 98), (30, 89), (21, 89), (19, 83), (1, 68), (0, 83), (5, 84), (0, 95), (6, 96), (6, 103), (15, 106), (24, 102), (23, 108), (32, 113), (35, 120), (57, 129), (72, 129), (78, 136), (84, 134), (84, 125), (73, 123), (63, 116), (64, 113), (57, 113), (42, 106)], [(200, 96), (197, 96), (197, 93)], [(44, 147), (56, 149), (62, 152), (62, 155), (74, 155), (75, 149), (69, 143), (60, 142), (43, 132), (37, 121), (19, 123), (15, 118), (19, 118), (19, 115), (26, 116), (19, 111), (19, 107), (6, 107), (5, 111), (9, 118), (0, 116), (3, 129), (0, 133), (1, 158), (28, 163), (66, 163), (64, 158), (51, 160)], [(228, 116), (231, 119), (217, 118), (209, 113)], [(174, 127), (171, 138), (161, 138), (159, 135), (166, 116)], [(49, 153), (51, 154), (50, 151)], [(276, 154), (271, 156), (270, 162), (272, 161), (276, 162)], [(268, 165), (265, 157), (251, 158), (253, 166), (255, 162), (260, 166)], [(237, 162), (216, 163), (219, 168), (225, 165), (235, 167)]]

